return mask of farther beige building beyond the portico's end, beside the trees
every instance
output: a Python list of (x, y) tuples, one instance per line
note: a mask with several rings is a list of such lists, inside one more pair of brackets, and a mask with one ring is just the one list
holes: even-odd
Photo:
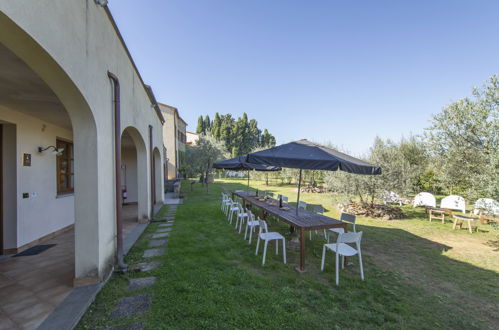
[(178, 109), (167, 104), (158, 103), (165, 118), (163, 139), (166, 148), (166, 174), (168, 180), (180, 177), (179, 169), (185, 161), (185, 145), (187, 142), (187, 123), (180, 117)]

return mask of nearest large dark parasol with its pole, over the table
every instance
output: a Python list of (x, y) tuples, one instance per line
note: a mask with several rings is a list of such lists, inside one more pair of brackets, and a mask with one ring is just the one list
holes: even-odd
[[(341, 170), (355, 174), (381, 174), (379, 166), (305, 139), (248, 154), (246, 161), (253, 164), (300, 169), (297, 203), (300, 201), (302, 170)], [(298, 214), (298, 205), (296, 213)]]

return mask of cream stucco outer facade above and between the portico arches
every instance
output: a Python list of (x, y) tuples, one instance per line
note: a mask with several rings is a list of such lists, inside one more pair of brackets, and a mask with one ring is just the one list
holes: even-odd
[[(94, 1), (2, 0), (0, 11), (0, 42), (53, 89), (71, 117), (76, 277), (102, 278), (114, 263), (116, 244), (114, 124), (107, 72), (120, 80), (121, 127), (140, 132), (148, 156), (148, 127), (153, 126), (153, 145), (161, 148), (161, 122), (104, 8)], [(149, 169), (144, 179), (148, 201)]]

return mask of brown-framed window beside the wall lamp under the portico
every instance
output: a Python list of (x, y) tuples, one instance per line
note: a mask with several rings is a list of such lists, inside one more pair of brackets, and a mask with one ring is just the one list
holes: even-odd
[(57, 149), (64, 149), (57, 156), (57, 194), (70, 194), (74, 192), (73, 143), (57, 140)]

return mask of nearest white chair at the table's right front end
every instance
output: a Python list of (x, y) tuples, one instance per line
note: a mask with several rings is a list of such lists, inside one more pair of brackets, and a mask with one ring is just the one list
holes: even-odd
[[(362, 232), (358, 233), (343, 233), (338, 235), (336, 243), (324, 244), (322, 248), (322, 263), (321, 271), (324, 271), (324, 261), (326, 259), (326, 250), (329, 249), (336, 253), (336, 285), (340, 285), (340, 263), (339, 258), (341, 257), (341, 268), (345, 268), (345, 257), (352, 257), (356, 254), (359, 255), (359, 265), (360, 265), (360, 278), (364, 280), (364, 267), (362, 265), (362, 252), (360, 250), (360, 241), (362, 239)], [(355, 243), (356, 248), (348, 245), (348, 243)]]

